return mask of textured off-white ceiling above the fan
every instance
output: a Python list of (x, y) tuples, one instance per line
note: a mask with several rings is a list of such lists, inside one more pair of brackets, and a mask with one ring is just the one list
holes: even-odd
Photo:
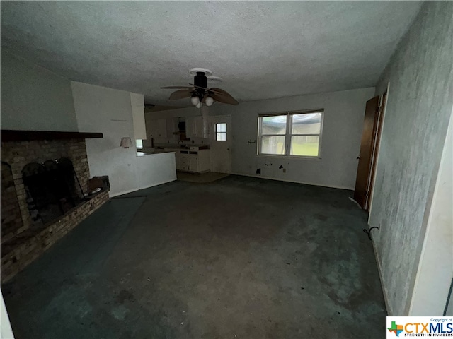
[(239, 102), (374, 86), (421, 2), (1, 1), (1, 46), (74, 81), (167, 100), (191, 67)]

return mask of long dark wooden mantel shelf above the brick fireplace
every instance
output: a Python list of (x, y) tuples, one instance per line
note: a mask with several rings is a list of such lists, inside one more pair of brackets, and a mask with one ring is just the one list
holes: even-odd
[(102, 133), (1, 130), (1, 141), (33, 141), (102, 138)]

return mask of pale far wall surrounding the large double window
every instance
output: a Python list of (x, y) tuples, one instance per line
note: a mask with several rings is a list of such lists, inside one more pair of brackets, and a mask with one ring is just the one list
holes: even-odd
[[(216, 103), (209, 107), (210, 116), (231, 115), (233, 129), (232, 170), (234, 174), (302, 182), (341, 189), (354, 189), (357, 160), (362, 137), (365, 103), (374, 95), (374, 88), (360, 88), (333, 93), (300, 95), (281, 99), (241, 102), (238, 106)], [(258, 114), (324, 109), (321, 159), (282, 159), (256, 155)], [(200, 115), (193, 107), (147, 113), (147, 124), (158, 117)], [(268, 164), (268, 165), (265, 165)], [(271, 165), (272, 164), (272, 165)], [(278, 167), (282, 165), (286, 173)]]

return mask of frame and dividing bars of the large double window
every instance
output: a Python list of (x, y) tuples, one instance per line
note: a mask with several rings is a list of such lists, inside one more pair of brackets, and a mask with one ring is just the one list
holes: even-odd
[[(321, 126), (319, 129), (319, 134), (292, 134), (292, 115), (295, 114), (312, 114), (312, 113), (321, 113)], [(262, 129), (262, 118), (263, 117), (276, 117), (285, 115), (286, 119), (286, 131), (285, 134), (263, 134), (261, 133)], [(289, 157), (294, 159), (321, 159), (321, 145), (322, 145), (322, 136), (323, 136), (323, 125), (324, 125), (324, 109), (309, 109), (309, 110), (297, 110), (297, 111), (284, 111), (284, 112), (272, 112), (272, 113), (262, 113), (258, 114), (258, 137), (257, 137), (257, 146), (256, 146), (256, 155), (258, 157)], [(283, 136), (285, 138), (285, 148), (284, 154), (270, 154), (261, 152), (261, 144), (263, 136)], [(292, 136), (319, 136), (318, 144), (318, 155), (291, 155), (291, 141)]]

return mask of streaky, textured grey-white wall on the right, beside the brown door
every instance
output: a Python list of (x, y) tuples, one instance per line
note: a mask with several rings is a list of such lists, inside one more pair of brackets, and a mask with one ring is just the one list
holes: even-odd
[(452, 36), (453, 3), (425, 2), (377, 83), (379, 94), (390, 81), (390, 93), (369, 226), (381, 227), (373, 240), (389, 315), (409, 314), (452, 112)]

